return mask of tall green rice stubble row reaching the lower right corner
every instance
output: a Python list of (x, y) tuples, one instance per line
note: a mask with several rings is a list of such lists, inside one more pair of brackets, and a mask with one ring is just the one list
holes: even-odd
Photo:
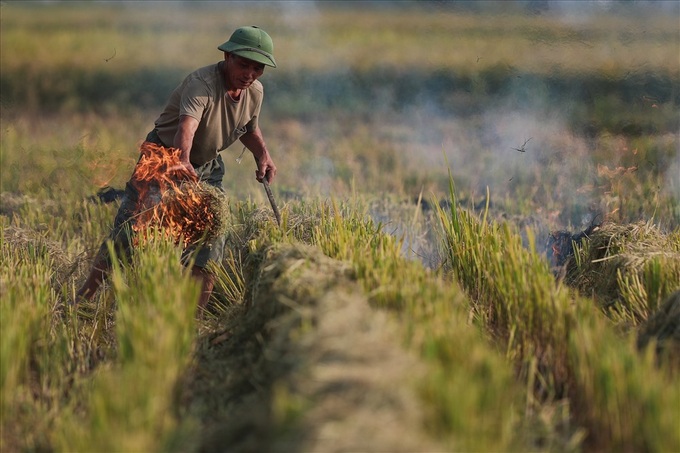
[(587, 429), (586, 445), (680, 446), (680, 394), (669, 370), (638, 353), (634, 339), (616, 333), (591, 301), (556, 283), (533, 244), (525, 249), (507, 224), (487, 223), (456, 204), (440, 216), (448, 266), (472, 295), (478, 319), (521, 369), (536, 363), (537, 397), (569, 398)]

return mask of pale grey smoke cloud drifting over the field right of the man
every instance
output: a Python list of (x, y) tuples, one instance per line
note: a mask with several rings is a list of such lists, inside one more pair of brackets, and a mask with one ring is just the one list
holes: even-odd
[[(506, 202), (509, 196), (532, 197), (512, 202), (543, 202), (546, 212), (549, 204), (552, 209), (572, 205), (567, 206), (571, 210), (578, 205), (579, 211), (593, 205), (590, 145), (570, 130), (568, 108), (551, 106), (540, 96), (518, 99), (514, 93), (493, 104), (478, 114), (458, 116), (424, 100), (407, 110), (415, 122), (406, 152), (417, 150), (412, 157), (431, 171), (441, 171), (447, 163), (457, 190), (471, 201), (485, 198), (488, 189), (492, 203)], [(592, 215), (579, 214), (569, 222), (590, 220)]]

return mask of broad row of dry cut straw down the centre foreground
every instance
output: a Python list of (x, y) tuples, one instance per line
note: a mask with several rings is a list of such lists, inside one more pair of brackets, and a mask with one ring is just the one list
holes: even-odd
[(252, 300), (188, 378), (205, 451), (442, 451), (423, 430), (418, 362), (346, 265), (281, 246)]

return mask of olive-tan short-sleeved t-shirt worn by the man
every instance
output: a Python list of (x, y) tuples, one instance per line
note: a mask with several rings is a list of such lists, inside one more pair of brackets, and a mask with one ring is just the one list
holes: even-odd
[(189, 156), (199, 166), (217, 157), (246, 132), (257, 129), (264, 90), (256, 80), (241, 91), (238, 102), (227, 94), (223, 62), (197, 69), (189, 74), (170, 95), (165, 109), (155, 122), (161, 141), (172, 146), (179, 118), (189, 115), (198, 120)]

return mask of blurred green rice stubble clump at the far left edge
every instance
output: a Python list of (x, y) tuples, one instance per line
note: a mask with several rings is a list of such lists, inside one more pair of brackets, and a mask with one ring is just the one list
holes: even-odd
[(17, 246), (4, 221), (0, 226), (0, 449), (41, 449), (49, 445), (53, 421), (45, 414), (58, 406), (67, 386), (69, 335), (63, 324), (53, 323), (57, 297), (47, 244)]

